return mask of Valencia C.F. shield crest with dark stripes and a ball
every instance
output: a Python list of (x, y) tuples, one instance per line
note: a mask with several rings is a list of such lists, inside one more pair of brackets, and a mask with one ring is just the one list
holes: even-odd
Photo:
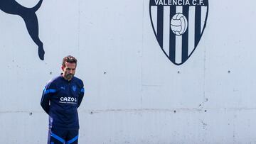
[(150, 0), (149, 11), (161, 50), (175, 65), (182, 65), (206, 28), (208, 0)]

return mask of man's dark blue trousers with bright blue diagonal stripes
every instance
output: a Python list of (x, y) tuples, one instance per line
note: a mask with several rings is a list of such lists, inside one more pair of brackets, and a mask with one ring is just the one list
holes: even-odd
[(78, 144), (78, 129), (49, 128), (48, 144)]

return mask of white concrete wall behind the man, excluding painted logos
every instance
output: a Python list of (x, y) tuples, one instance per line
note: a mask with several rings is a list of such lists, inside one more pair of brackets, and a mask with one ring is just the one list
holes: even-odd
[(46, 143), (41, 93), (66, 55), (85, 83), (82, 144), (256, 143), (255, 4), (210, 0), (201, 42), (181, 66), (156, 41), (149, 0), (44, 0), (44, 61), (23, 19), (0, 11), (0, 143)]

